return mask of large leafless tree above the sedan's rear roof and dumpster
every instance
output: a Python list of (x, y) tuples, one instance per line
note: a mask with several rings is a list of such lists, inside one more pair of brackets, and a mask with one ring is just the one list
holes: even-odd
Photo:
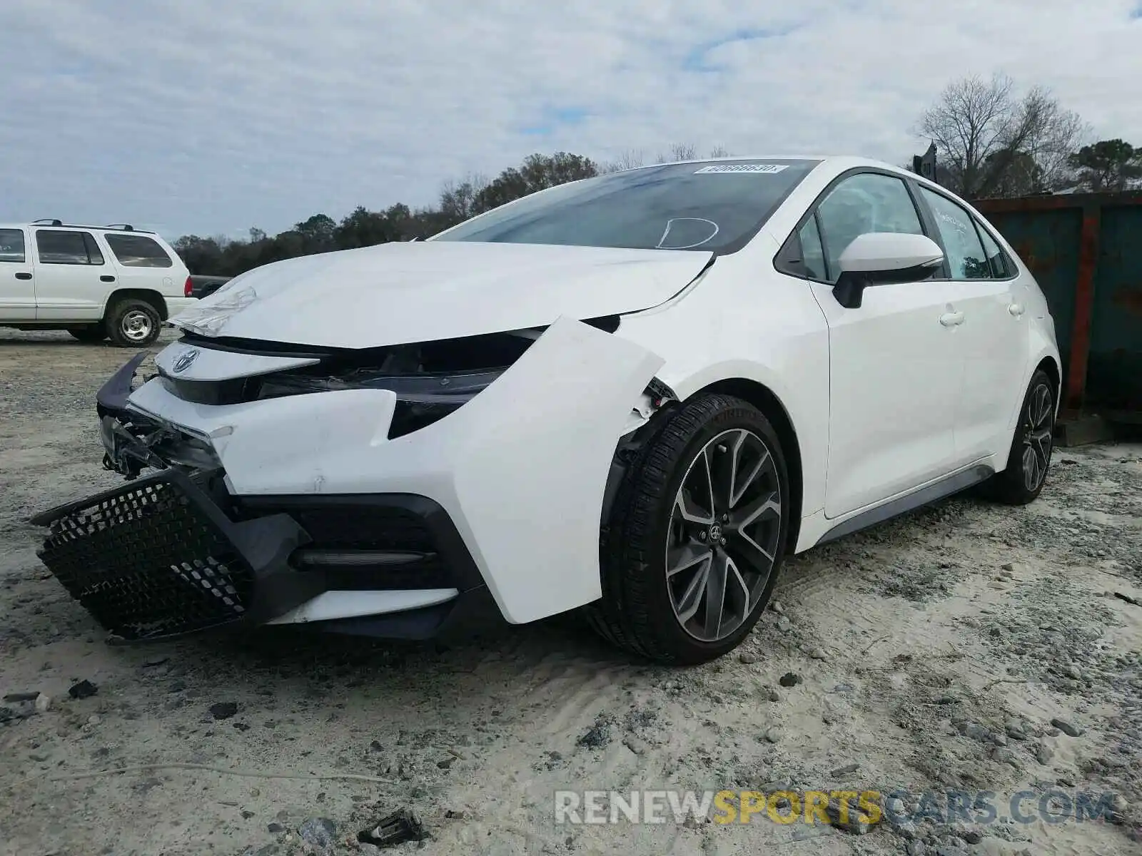
[(1045, 87), (1019, 96), (1014, 81), (964, 78), (950, 83), (917, 123), (935, 143), (952, 189), (970, 199), (1022, 195), (1068, 183), (1068, 156), (1088, 132)]

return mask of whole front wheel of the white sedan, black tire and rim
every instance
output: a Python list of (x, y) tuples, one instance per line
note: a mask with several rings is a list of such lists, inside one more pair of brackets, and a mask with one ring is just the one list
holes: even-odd
[(765, 415), (703, 395), (666, 415), (619, 487), (601, 541), (609, 641), (661, 663), (735, 648), (777, 584), (789, 532), (789, 477)]

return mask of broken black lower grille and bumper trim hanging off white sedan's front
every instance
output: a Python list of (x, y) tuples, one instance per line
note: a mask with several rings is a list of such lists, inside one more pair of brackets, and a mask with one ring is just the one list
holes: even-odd
[(373, 613), (320, 621), (335, 632), (423, 639), (498, 617), (456, 527), (424, 496), (219, 504), (164, 469), (32, 522), (49, 527), (43, 564), (116, 641), (320, 621), (332, 596)]

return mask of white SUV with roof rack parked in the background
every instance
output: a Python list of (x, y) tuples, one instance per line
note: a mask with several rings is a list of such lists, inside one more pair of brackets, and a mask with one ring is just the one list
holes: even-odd
[(144, 347), (163, 321), (194, 302), (186, 265), (153, 232), (0, 224), (0, 326)]

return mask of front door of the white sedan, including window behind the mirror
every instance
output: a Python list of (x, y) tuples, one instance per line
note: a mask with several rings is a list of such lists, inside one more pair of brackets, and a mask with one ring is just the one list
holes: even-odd
[(801, 227), (811, 288), (829, 324), (829, 459), (825, 514), (838, 517), (952, 469), (964, 355), (956, 284), (876, 285), (862, 305), (833, 294), (838, 259), (869, 232), (924, 234), (906, 183), (886, 172), (842, 178)]

